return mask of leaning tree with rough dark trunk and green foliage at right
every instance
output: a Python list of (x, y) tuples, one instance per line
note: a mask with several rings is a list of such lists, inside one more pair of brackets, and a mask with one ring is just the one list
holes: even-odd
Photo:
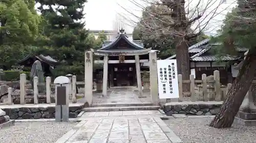
[[(248, 92), (256, 73), (256, 1), (238, 0), (238, 7), (226, 16), (220, 41), (226, 53), (233, 53), (236, 46), (249, 48), (238, 76), (228, 90), (227, 98), (210, 126), (216, 128), (231, 127), (243, 99)], [(234, 54), (234, 53), (233, 53)]]

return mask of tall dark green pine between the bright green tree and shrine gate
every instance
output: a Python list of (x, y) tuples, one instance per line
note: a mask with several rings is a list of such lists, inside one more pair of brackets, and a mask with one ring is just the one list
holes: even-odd
[(36, 0), (38, 8), (45, 18), (46, 25), (42, 28), (42, 35), (47, 37), (40, 41), (41, 46), (47, 45), (45, 54), (50, 54), (62, 66), (55, 70), (60, 74), (82, 74), (84, 69), (84, 51), (93, 48), (88, 41), (89, 32), (84, 29), (83, 8), (87, 0)]

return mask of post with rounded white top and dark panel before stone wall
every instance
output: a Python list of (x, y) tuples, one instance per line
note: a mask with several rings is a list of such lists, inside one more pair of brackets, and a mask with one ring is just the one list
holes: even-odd
[(55, 121), (69, 122), (69, 88), (70, 80), (66, 76), (58, 76), (55, 84)]

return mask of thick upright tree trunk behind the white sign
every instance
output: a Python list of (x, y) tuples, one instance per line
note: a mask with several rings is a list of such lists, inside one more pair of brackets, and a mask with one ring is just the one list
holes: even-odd
[[(176, 46), (176, 59), (177, 59), (177, 71), (178, 74), (182, 75), (183, 80), (189, 80), (190, 75), (190, 61), (188, 53), (188, 45), (186, 41), (177, 40), (178, 45)], [(183, 83), (183, 91), (189, 92), (189, 83)]]

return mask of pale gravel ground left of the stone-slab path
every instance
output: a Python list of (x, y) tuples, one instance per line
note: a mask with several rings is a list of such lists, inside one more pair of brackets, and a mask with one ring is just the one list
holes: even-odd
[(0, 143), (54, 143), (77, 123), (19, 122), (0, 129)]

